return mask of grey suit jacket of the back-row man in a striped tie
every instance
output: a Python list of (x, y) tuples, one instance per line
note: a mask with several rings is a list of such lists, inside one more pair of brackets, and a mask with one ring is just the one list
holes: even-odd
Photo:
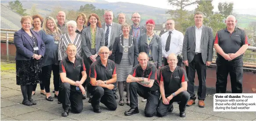
[[(105, 22), (102, 23), (102, 28), (105, 30)], [(115, 38), (119, 37), (119, 35), (121, 35), (122, 32), (123, 31), (122, 31), (122, 28), (121, 28), (121, 24), (113, 22), (112, 23), (112, 28), (111, 28), (109, 50), (113, 49), (113, 44), (114, 44)], [(105, 31), (104, 31), (104, 34), (105, 34)]]

